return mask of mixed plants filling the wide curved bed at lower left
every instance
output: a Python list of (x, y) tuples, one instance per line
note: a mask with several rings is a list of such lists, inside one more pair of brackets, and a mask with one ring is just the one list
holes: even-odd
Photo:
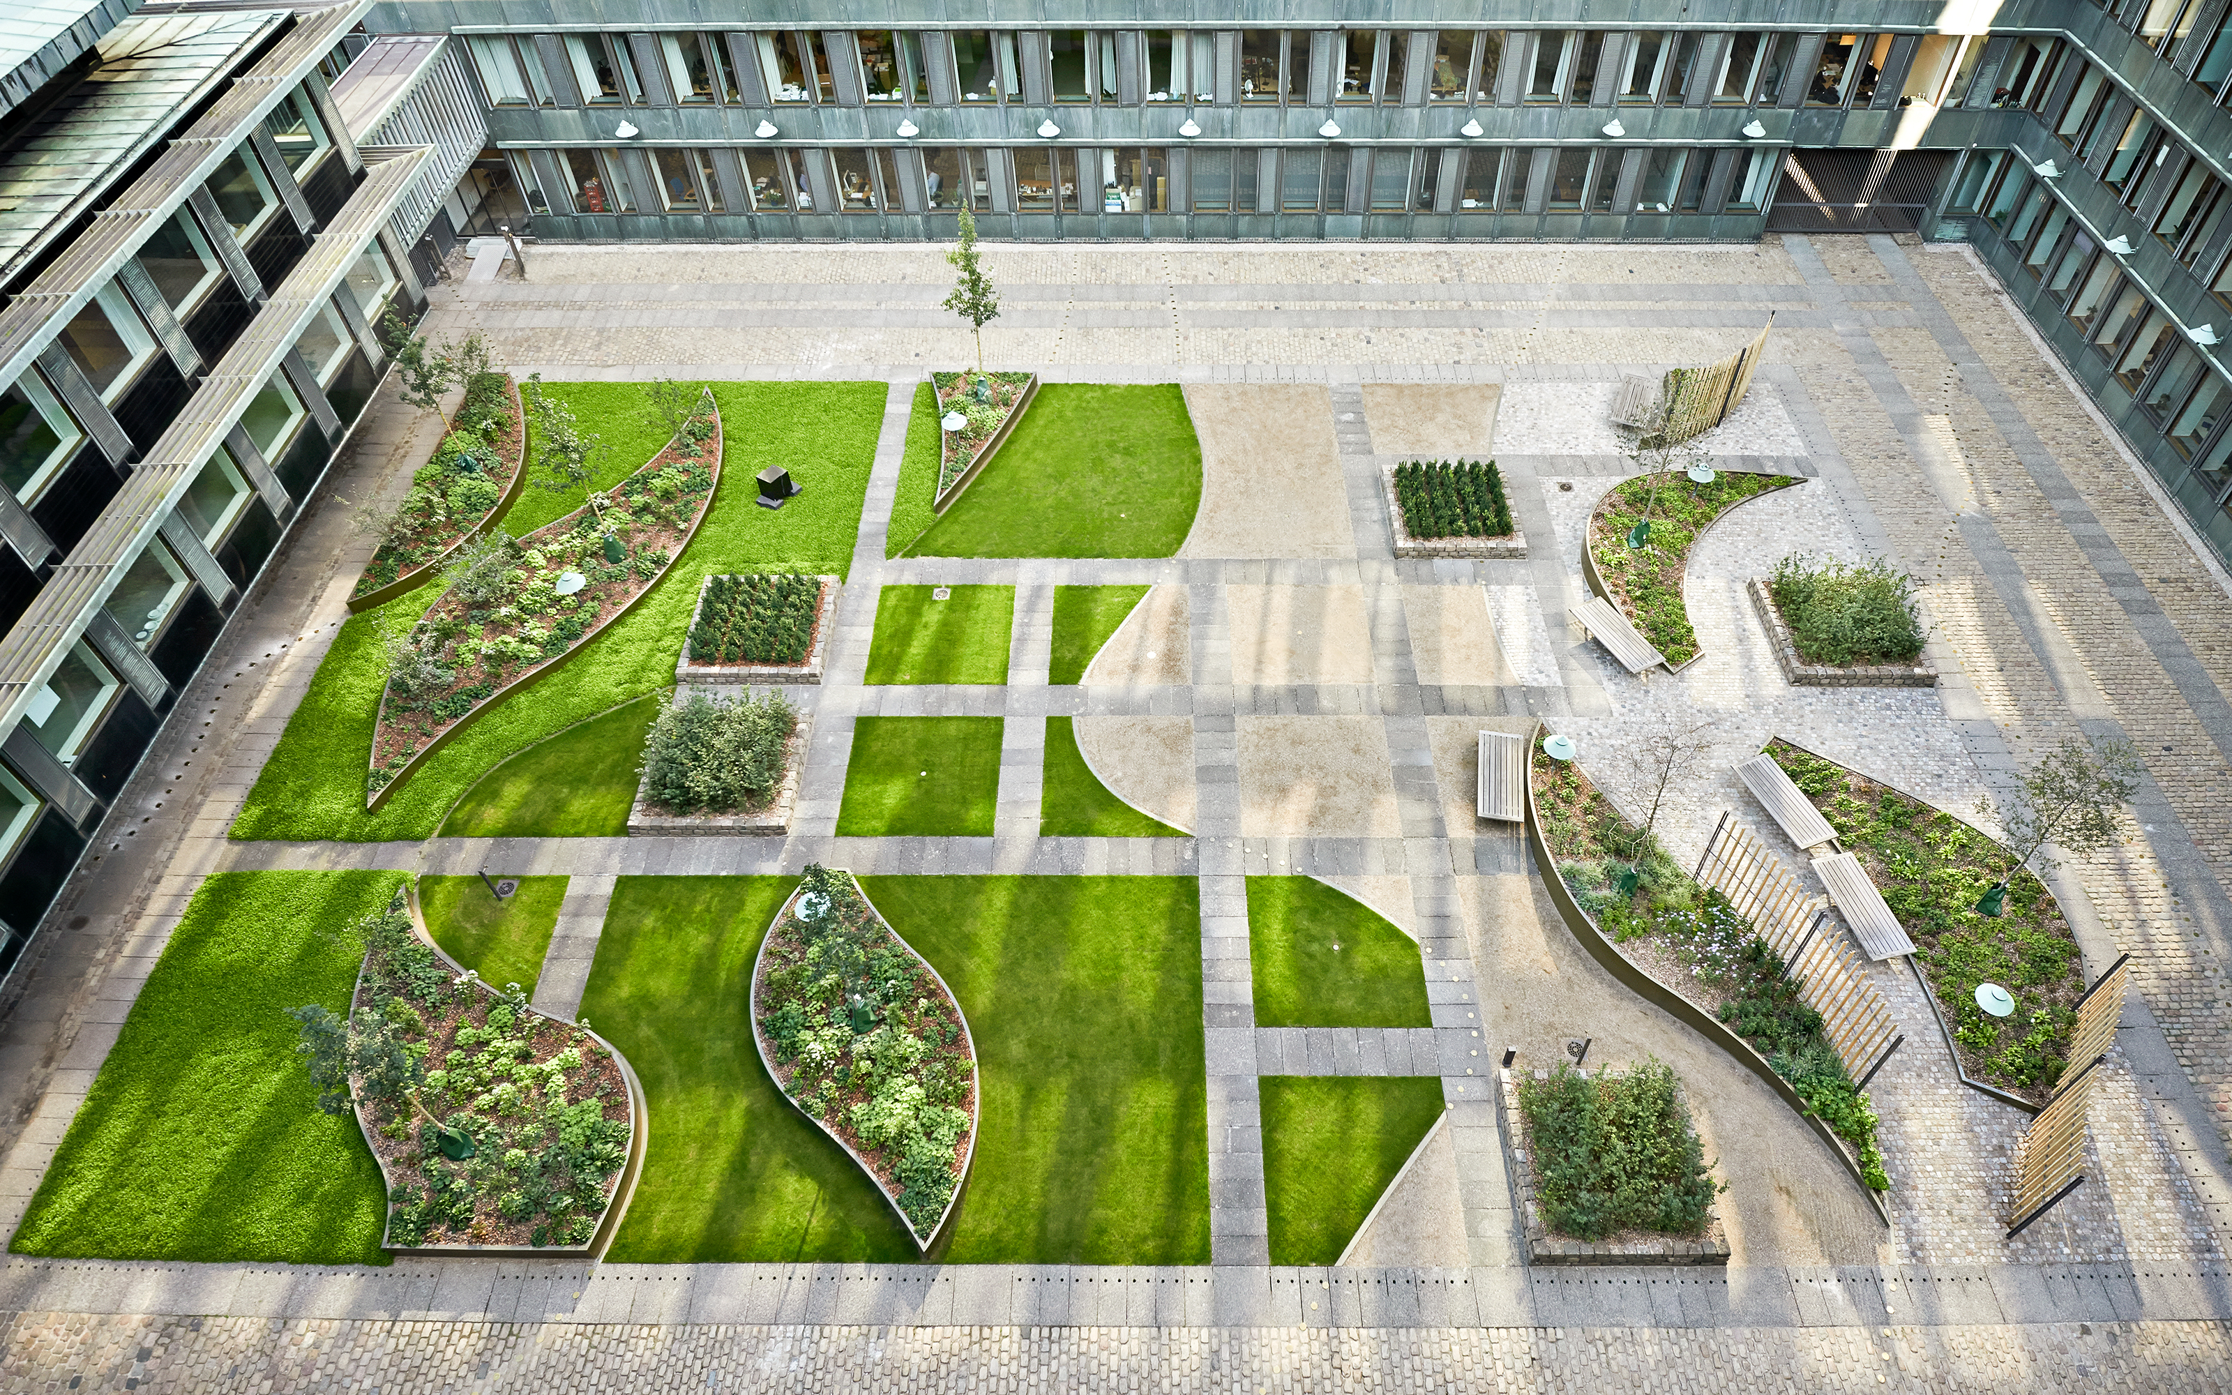
[(529, 1009), (518, 984), (453, 980), (400, 888), (350, 937), (364, 949), (350, 1011), (290, 1016), (317, 1109), (362, 1118), (393, 1178), (388, 1243), (587, 1245), (634, 1123), (612, 1051)]

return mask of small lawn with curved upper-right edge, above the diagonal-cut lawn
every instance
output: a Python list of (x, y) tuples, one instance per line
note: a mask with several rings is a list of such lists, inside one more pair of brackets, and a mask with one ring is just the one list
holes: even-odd
[(1312, 877), (1248, 877), (1257, 1027), (1433, 1027), (1417, 942)]

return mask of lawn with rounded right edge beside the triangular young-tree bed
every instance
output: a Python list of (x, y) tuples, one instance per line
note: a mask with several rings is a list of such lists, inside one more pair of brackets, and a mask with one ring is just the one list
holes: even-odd
[(908, 551), (1167, 558), (1199, 507), (1201, 442), (1178, 384), (1049, 384), (975, 484)]

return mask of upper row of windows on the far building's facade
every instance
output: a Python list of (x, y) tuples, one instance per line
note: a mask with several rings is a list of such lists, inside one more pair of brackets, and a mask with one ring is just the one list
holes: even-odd
[[(1725, 42), (1721, 42), (1725, 40)], [(966, 105), (966, 103), (1779, 103), (1821, 45), (1803, 105), (1891, 105), (1891, 33), (1656, 29), (772, 29), (703, 33), (480, 33), (466, 40), (489, 103)], [(1964, 92), (1984, 38), (1922, 36), (1897, 105)], [(571, 85), (554, 83), (560, 60)], [(1710, 62), (1710, 74), (1699, 65)], [(1321, 74), (1312, 85), (1312, 69)], [(1703, 83), (1699, 78), (1703, 76)], [(1223, 78), (1223, 80), (1221, 80)], [(1949, 78), (1953, 78), (1949, 83)], [(1886, 98), (1886, 100), (1879, 100)]]

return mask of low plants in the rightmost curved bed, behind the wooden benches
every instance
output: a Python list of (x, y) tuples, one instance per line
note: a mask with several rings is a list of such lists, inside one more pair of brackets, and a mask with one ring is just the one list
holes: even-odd
[[(2013, 870), (2013, 855), (1953, 815), (1835, 761), (1770, 741), (1768, 754), (1812, 799), (1868, 868), (1884, 904), (1915, 940), (1915, 962), (1953, 1027), (1962, 1069), (2033, 1103), (2051, 1096), (2069, 1056), (2085, 969), (2076, 933), (2047, 884), (2009, 879), (2004, 915), (1978, 915), (1984, 891)], [(2009, 1018), (1975, 1004), (1995, 982), (2015, 998)]]

